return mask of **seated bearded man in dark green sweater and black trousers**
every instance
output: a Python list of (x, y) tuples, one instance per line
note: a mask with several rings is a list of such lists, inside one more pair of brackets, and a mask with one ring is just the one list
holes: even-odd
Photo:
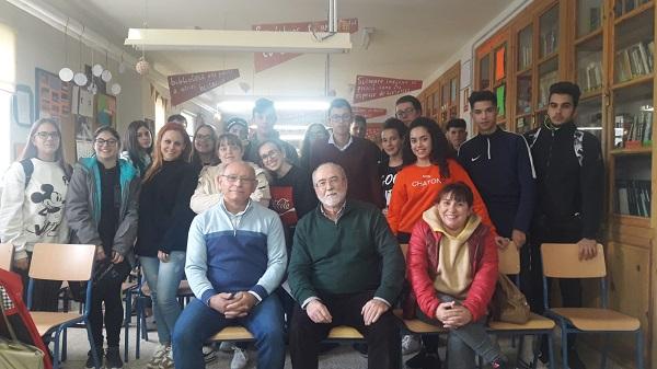
[(357, 328), (368, 367), (399, 368), (400, 330), (391, 307), (404, 282), (404, 256), (373, 205), (347, 199), (342, 166), (312, 173), (320, 205), (297, 223), (288, 281), (298, 302), (290, 332), (292, 368), (318, 368), (320, 342), (332, 327)]

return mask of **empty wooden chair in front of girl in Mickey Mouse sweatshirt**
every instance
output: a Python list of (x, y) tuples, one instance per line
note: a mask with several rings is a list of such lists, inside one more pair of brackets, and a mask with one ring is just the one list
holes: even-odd
[[(91, 301), (91, 287), (95, 245), (85, 244), (55, 244), (37, 243), (34, 245), (32, 262), (30, 264), (30, 285), (27, 287), (27, 308), (32, 308), (34, 293), (34, 279), (88, 281), (85, 301)], [(84, 304), (82, 313), (73, 312), (45, 312), (32, 311), (30, 315), (38, 334), (46, 342), (54, 342), (53, 367), (59, 368), (60, 335), (66, 328), (83, 323), (91, 345), (91, 353), (97, 369), (101, 368), (101, 358), (97, 356), (91, 326), (89, 325), (90, 303)]]

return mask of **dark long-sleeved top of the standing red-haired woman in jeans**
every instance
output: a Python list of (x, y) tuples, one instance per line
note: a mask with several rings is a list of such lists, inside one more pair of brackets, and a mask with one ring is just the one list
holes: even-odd
[(197, 182), (193, 165), (176, 160), (163, 162), (160, 172), (142, 184), (137, 255), (155, 257), (158, 251), (187, 250), (187, 233), (195, 216), (189, 199)]

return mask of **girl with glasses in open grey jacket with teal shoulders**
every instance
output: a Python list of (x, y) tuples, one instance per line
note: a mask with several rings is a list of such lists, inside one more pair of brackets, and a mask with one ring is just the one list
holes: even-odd
[[(111, 127), (94, 135), (94, 152), (82, 158), (73, 170), (67, 195), (66, 219), (71, 242), (95, 244), (95, 275), (91, 291), (89, 323), (92, 349), (103, 357), (103, 322), (107, 333), (105, 368), (123, 368), (118, 351), (124, 309), (120, 288), (135, 265), (132, 245), (137, 238), (137, 170), (119, 159), (120, 138)], [(103, 277), (97, 277), (103, 275)], [(104, 307), (104, 309), (103, 309)], [(93, 368), (91, 350), (87, 368)]]

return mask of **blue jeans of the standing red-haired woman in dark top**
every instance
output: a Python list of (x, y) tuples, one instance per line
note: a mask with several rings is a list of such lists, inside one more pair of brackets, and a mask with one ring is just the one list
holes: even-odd
[(143, 276), (151, 290), (153, 314), (158, 322), (158, 339), (160, 344), (171, 343), (171, 332), (181, 314), (181, 305), (176, 293), (185, 275), (185, 253), (174, 251), (169, 254), (169, 262), (162, 263), (157, 257), (139, 257)]

